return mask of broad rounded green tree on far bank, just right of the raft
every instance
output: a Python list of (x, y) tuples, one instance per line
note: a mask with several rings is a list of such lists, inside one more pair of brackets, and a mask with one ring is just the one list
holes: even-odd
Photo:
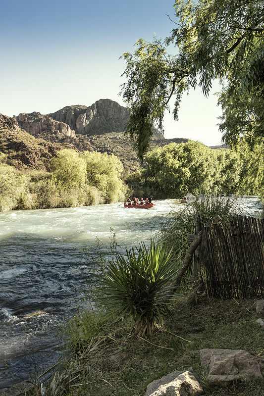
[(218, 192), (224, 167), (224, 161), (218, 158), (221, 154), (222, 150), (211, 150), (191, 140), (155, 148), (145, 157), (145, 187), (159, 198), (180, 198), (201, 186)]

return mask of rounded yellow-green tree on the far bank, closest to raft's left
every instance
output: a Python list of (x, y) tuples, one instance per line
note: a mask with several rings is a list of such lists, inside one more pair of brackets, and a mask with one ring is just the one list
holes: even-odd
[(123, 165), (115, 155), (84, 151), (81, 158), (85, 161), (87, 183), (102, 192), (106, 203), (124, 199)]

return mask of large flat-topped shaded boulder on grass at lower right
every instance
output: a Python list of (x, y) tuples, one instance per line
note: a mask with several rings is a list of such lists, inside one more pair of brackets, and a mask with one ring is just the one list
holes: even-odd
[(262, 378), (257, 359), (242, 349), (201, 349), (202, 367), (208, 372), (209, 384), (227, 386), (237, 378)]

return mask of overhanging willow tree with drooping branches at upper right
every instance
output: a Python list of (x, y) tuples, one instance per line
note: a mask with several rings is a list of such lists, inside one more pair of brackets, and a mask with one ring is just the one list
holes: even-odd
[[(163, 130), (164, 111), (172, 98), (177, 120), (182, 94), (190, 88), (200, 86), (208, 96), (212, 81), (218, 79), (228, 98), (222, 102), (224, 111), (241, 95), (254, 95), (254, 105), (263, 112), (263, 1), (176, 0), (174, 9), (175, 28), (169, 37), (152, 43), (140, 39), (134, 54), (123, 54), (128, 80), (121, 92), (131, 110), (127, 131), (141, 159), (153, 125)], [(171, 45), (176, 54), (168, 52)], [(263, 129), (257, 133), (264, 137)]]

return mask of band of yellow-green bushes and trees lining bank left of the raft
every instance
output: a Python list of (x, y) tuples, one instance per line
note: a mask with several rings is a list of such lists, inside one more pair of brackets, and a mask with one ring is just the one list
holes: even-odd
[(52, 172), (17, 170), (0, 157), (0, 211), (110, 203), (123, 200), (123, 166), (114, 155), (63, 149)]

